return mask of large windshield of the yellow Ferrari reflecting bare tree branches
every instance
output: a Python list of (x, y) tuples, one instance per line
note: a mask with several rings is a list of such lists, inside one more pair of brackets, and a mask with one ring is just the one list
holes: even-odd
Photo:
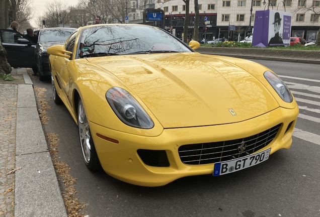
[(170, 33), (151, 26), (92, 26), (82, 31), (78, 57), (192, 52)]

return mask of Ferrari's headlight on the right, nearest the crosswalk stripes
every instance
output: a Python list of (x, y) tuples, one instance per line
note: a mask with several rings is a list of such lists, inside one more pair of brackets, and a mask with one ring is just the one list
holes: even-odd
[(292, 94), (287, 85), (277, 75), (270, 71), (266, 71), (264, 73), (264, 76), (284, 101), (293, 101)]

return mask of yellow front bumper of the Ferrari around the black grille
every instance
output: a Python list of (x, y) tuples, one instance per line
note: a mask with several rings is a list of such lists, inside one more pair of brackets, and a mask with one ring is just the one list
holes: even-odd
[[(89, 122), (100, 163), (109, 175), (122, 181), (142, 185), (161, 186), (178, 178), (212, 174), (214, 163), (187, 165), (182, 163), (178, 149), (187, 144), (210, 143), (250, 137), (280, 124), (280, 129), (271, 143), (262, 151), (271, 148), (271, 154), (279, 149), (288, 149), (298, 116), (298, 107), (289, 110), (277, 108), (267, 114), (244, 122), (195, 128), (165, 129), (157, 137), (143, 137), (114, 131)], [(97, 136), (101, 134), (118, 140), (109, 142)], [(164, 150), (169, 165), (148, 166), (139, 157), (138, 150)]]

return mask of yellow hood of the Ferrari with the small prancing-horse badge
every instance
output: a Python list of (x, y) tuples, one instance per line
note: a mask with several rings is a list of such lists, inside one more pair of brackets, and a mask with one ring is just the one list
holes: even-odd
[[(209, 55), (142, 54), (87, 60), (125, 83), (164, 128), (242, 122), (279, 107), (252, 74)], [(248, 63), (248, 67), (265, 70)]]

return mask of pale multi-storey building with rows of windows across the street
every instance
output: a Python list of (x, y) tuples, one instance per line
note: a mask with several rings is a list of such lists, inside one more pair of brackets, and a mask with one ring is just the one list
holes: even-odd
[[(141, 1), (141, 2), (139, 2)], [(183, 37), (186, 6), (182, 0), (133, 0), (128, 4), (130, 8), (139, 8), (134, 13), (128, 13), (129, 23), (141, 23), (145, 6), (154, 5), (155, 9), (165, 11), (165, 22), (168, 30), (178, 38)], [(153, 4), (153, 5), (152, 5)], [(319, 15), (308, 10), (313, 7), (320, 13), (320, 1), (314, 0), (198, 0), (199, 4), (199, 40), (213, 40), (228, 38), (238, 41), (248, 35), (253, 29), (255, 12), (263, 10), (276, 10), (292, 13), (291, 36), (303, 37), (307, 42), (315, 40), (320, 27)], [(144, 7), (143, 7), (144, 6)], [(251, 12), (252, 8), (252, 12)], [(251, 16), (252, 14), (252, 16)], [(251, 22), (250, 22), (251, 18)], [(194, 33), (195, 10), (194, 1), (190, 1), (188, 20), (188, 39)], [(230, 30), (231, 27), (231, 30)]]

